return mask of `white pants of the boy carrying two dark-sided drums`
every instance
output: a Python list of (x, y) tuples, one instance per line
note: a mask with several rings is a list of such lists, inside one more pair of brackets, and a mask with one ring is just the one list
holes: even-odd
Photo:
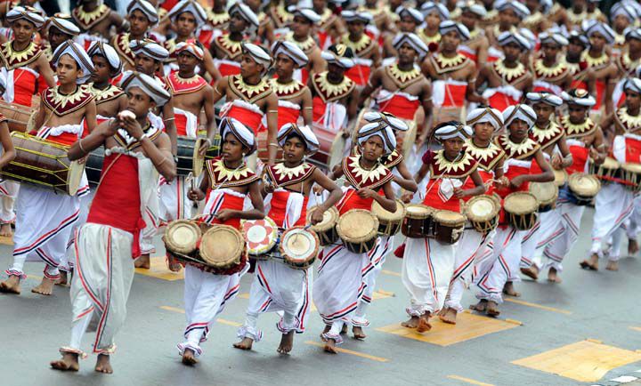
[(402, 261), (402, 284), (410, 293), (410, 317), (442, 309), (454, 272), (455, 245), (433, 238), (408, 238)]

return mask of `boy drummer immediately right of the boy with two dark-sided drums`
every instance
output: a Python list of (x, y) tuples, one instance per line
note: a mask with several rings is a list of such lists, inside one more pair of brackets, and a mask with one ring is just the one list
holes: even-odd
[[(474, 136), (466, 141), (465, 151), (474, 157), (478, 164), (477, 172), (485, 185), (485, 194), (491, 196), (494, 192), (494, 181), (500, 181), (503, 177), (505, 151), (492, 143), (494, 133), (503, 127), (503, 116), (498, 109), (474, 109), (467, 114), (467, 125), (474, 130)], [(461, 189), (474, 187), (474, 181), (467, 179)], [(467, 202), (469, 198), (471, 197), (464, 200)], [(491, 264), (491, 240), (495, 233), (493, 229), (489, 232), (479, 232), (467, 223), (463, 235), (458, 240), (450, 289), (445, 297), (444, 307), (439, 313), (443, 322), (456, 324), (458, 312), (463, 312), (463, 291), (475, 279), (476, 268), (483, 269), (488, 263)]]

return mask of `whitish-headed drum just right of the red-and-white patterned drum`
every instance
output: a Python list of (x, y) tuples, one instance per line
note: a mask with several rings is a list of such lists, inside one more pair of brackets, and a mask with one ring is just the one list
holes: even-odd
[(316, 260), (320, 245), (315, 232), (304, 227), (294, 227), (283, 232), (279, 250), (289, 267), (308, 269)]

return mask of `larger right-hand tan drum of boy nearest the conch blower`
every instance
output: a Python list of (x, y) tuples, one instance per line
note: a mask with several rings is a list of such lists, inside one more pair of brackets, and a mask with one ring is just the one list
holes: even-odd
[(229, 225), (211, 225), (200, 240), (200, 258), (208, 267), (227, 275), (242, 269), (246, 254), (245, 238)]

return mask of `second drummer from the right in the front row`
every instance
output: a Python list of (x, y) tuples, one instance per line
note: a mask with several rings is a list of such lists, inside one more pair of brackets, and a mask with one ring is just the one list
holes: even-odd
[[(560, 117), (559, 124), (564, 128), (565, 141), (572, 153), (572, 165), (565, 170), (570, 175), (587, 173), (588, 158), (594, 160), (596, 165), (601, 165), (606, 156), (604, 133), (601, 127), (588, 117), (589, 109), (596, 101), (588, 92), (580, 89), (563, 92), (561, 97), (567, 104), (568, 115)], [(567, 186), (560, 189), (559, 198), (557, 210), (563, 217), (564, 229), (561, 236), (546, 245), (543, 251), (550, 266), (554, 266), (557, 272), (563, 269), (561, 262), (579, 238), (580, 219), (585, 209), (585, 205), (577, 205), (577, 198)], [(593, 255), (588, 261), (581, 261), (580, 264), (586, 269), (598, 269), (598, 256)]]

